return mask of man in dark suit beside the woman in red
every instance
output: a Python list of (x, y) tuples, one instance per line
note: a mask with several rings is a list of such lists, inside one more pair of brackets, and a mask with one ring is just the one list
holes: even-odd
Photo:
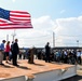
[(14, 66), (18, 66), (17, 65), (17, 54), (19, 53), (19, 48), (18, 48), (18, 40), (15, 39), (15, 42), (13, 43), (13, 51), (12, 51), (12, 60), (13, 60), (13, 65)]

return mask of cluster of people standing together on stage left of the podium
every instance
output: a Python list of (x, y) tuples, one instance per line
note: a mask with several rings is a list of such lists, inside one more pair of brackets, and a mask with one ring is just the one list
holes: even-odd
[(0, 44), (0, 65), (3, 64), (3, 55), (5, 53), (5, 63), (9, 63), (9, 56), (11, 53), (11, 58), (12, 58), (12, 64), (14, 66), (17, 65), (17, 54), (19, 53), (19, 48), (18, 48), (18, 40), (15, 39), (15, 41), (10, 44), (10, 41), (2, 40), (2, 43)]

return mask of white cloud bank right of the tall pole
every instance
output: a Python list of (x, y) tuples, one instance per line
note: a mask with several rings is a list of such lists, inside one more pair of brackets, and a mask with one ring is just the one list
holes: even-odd
[[(82, 36), (82, 16), (79, 17), (68, 17), (68, 18), (58, 18), (56, 19), (57, 29), (57, 44), (56, 45), (71, 45), (78, 46), (77, 40), (80, 40), (79, 46), (81, 43)], [(59, 41), (60, 40), (60, 41)], [(60, 43), (60, 44), (59, 44)]]

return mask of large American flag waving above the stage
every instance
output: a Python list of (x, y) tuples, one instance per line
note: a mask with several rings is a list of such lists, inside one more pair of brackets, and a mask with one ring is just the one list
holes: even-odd
[(30, 14), (24, 11), (9, 11), (0, 8), (0, 29), (32, 28)]

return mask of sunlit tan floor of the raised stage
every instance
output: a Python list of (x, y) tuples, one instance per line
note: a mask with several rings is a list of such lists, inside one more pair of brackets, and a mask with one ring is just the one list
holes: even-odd
[(19, 76), (27, 76), (33, 78), (33, 73), (51, 71), (54, 69), (66, 69), (72, 67), (72, 65), (57, 64), (57, 63), (45, 63), (44, 60), (35, 59), (35, 64), (28, 64), (28, 60), (18, 60), (19, 67), (15, 67), (10, 62), (6, 64), (3, 62), (4, 66), (0, 65), (0, 78), (9, 79)]

